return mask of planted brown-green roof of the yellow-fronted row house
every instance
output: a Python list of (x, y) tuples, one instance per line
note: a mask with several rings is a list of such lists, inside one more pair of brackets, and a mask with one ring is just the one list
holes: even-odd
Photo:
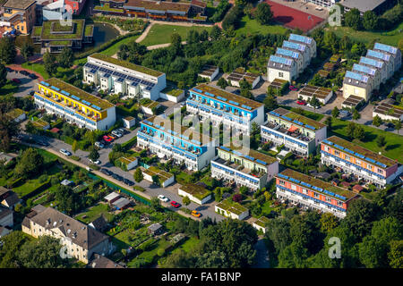
[[(90, 102), (91, 105), (97, 105), (101, 108), (101, 110), (105, 110), (107, 108), (113, 107), (115, 105), (112, 105), (110, 102), (108, 102), (105, 99), (101, 99), (99, 97), (95, 97), (93, 95), (91, 95), (90, 93), (82, 90), (81, 88), (76, 88), (73, 85), (64, 82), (63, 80), (59, 80), (56, 78), (51, 78), (49, 80), (45, 80), (50, 86), (54, 86), (56, 88), (60, 88), (61, 90), (58, 91), (59, 93), (64, 90), (67, 91), (70, 94), (70, 97), (76, 96), (76, 97), (80, 97), (81, 101), (82, 99)], [(50, 87), (48, 87), (50, 88)], [(73, 99), (74, 100), (74, 99)], [(77, 101), (77, 100), (76, 100)]]

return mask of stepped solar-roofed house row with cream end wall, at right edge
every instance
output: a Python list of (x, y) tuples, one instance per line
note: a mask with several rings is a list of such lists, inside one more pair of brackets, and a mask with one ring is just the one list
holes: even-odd
[(399, 71), (401, 52), (395, 46), (375, 43), (360, 62), (355, 63), (353, 71), (347, 71), (343, 80), (343, 97), (362, 97), (368, 101), (374, 89), (385, 83)]

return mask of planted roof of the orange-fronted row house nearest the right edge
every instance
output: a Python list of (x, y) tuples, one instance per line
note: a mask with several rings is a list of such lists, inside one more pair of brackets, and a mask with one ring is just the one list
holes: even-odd
[[(347, 149), (349, 149), (351, 151), (354, 151), (354, 152), (358, 153), (359, 155), (368, 157), (368, 158), (373, 159), (373, 160), (375, 160), (375, 161), (377, 161), (379, 163), (386, 164), (388, 167), (393, 166), (395, 164), (398, 164), (398, 162), (396, 162), (396, 161), (394, 161), (394, 160), (392, 160), (392, 159), (390, 159), (388, 157), (379, 155), (376, 152), (373, 152), (371, 150), (365, 149), (364, 147), (356, 145), (353, 142), (347, 141), (345, 139), (341, 139), (341, 138), (339, 138), (337, 136), (332, 136), (332, 137), (328, 138), (327, 140), (332, 142), (333, 144), (339, 145), (340, 147), (347, 148)], [(322, 143), (326, 144), (323, 141), (322, 141)], [(347, 154), (347, 152), (345, 152), (344, 150), (340, 149), (339, 147), (335, 147), (334, 145), (332, 145), (331, 147), (334, 147), (334, 148), (340, 150), (341, 152)], [(366, 159), (363, 159), (363, 158), (360, 158), (360, 157), (357, 157), (357, 158), (359, 158), (360, 160), (364, 160), (365, 162), (367, 162), (369, 164), (378, 166), (377, 164), (373, 164), (373, 162), (368, 161)]]

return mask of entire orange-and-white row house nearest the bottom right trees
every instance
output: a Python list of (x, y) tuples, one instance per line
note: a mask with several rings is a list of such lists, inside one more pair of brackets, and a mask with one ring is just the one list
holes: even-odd
[(331, 213), (339, 218), (347, 215), (356, 193), (333, 186), (301, 172), (286, 169), (275, 176), (277, 198), (288, 199), (308, 209)]

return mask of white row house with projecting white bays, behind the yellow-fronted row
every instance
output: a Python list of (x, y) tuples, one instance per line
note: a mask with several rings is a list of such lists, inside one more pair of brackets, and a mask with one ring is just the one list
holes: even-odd
[(82, 69), (84, 83), (94, 83), (102, 90), (124, 97), (140, 96), (154, 101), (164, 98), (160, 92), (167, 87), (164, 72), (102, 54), (89, 55), (87, 60)]

